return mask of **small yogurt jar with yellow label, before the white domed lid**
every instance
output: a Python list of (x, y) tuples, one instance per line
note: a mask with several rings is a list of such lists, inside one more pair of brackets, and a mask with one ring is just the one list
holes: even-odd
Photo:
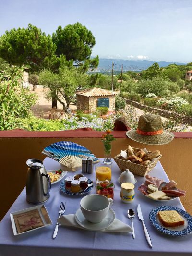
[(132, 203), (135, 197), (134, 184), (125, 182), (121, 184), (120, 198), (123, 203)]

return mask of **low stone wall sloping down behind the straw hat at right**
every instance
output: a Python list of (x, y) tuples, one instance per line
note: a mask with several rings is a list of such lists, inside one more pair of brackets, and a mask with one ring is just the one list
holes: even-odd
[(188, 116), (185, 116), (185, 115), (180, 115), (180, 114), (177, 114), (177, 113), (172, 113), (168, 110), (161, 110), (161, 109), (149, 107), (149, 106), (146, 106), (146, 105), (141, 104), (139, 102), (133, 101), (131, 99), (126, 99), (126, 98), (124, 98), (124, 99), (125, 99), (127, 104), (132, 105), (135, 108), (138, 108), (140, 110), (146, 110), (147, 112), (156, 111), (156, 113), (158, 113), (158, 115), (160, 115), (160, 116), (167, 117), (167, 118), (170, 118), (170, 117), (180, 118), (183, 121), (182, 123), (192, 125), (192, 118), (191, 117), (188, 117)]

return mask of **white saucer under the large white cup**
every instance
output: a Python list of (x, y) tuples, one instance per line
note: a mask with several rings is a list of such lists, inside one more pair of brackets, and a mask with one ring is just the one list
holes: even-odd
[(105, 217), (105, 219), (103, 219), (99, 223), (91, 223), (84, 218), (84, 215), (81, 209), (78, 209), (77, 212), (75, 213), (75, 220), (84, 229), (91, 230), (91, 231), (101, 231), (109, 227), (111, 224), (113, 224), (115, 220), (115, 213), (111, 208), (109, 208), (108, 214)]

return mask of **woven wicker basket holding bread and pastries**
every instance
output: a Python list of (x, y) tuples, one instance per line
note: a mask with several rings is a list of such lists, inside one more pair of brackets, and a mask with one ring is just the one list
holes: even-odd
[[(125, 151), (127, 152), (127, 150), (128, 149), (126, 149)], [(142, 149), (133, 147), (133, 150), (137, 153)], [(151, 151), (148, 151), (148, 152), (151, 153)], [(128, 162), (128, 161), (119, 159), (119, 157), (120, 157), (120, 154), (115, 156), (113, 159), (115, 160), (116, 164), (119, 166), (121, 171), (125, 171), (126, 169), (129, 169), (129, 171), (131, 171), (133, 174), (136, 174), (139, 176), (145, 176), (147, 173), (149, 173), (149, 171), (151, 171), (156, 166), (158, 160), (162, 157), (162, 155), (156, 158), (156, 160), (150, 163), (148, 166)]]

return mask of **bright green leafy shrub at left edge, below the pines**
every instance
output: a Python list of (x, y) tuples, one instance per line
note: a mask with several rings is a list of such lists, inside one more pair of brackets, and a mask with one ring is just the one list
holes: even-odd
[(11, 130), (16, 118), (26, 118), (37, 96), (22, 87), (23, 67), (0, 72), (0, 130)]

